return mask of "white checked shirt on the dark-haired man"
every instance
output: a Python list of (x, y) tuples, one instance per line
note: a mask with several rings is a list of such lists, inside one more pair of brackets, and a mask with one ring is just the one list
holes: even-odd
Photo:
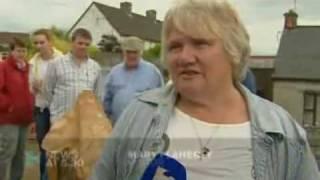
[(98, 96), (101, 68), (88, 58), (77, 64), (71, 53), (50, 62), (45, 77), (45, 95), (49, 103), (51, 123), (63, 116), (75, 104), (83, 90)]

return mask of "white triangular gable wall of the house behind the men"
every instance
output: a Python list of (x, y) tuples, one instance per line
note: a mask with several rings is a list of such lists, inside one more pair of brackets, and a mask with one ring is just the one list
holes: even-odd
[(111, 26), (101, 11), (95, 6), (91, 6), (82, 19), (74, 26), (72, 32), (77, 28), (88, 29), (92, 34), (93, 44), (97, 45), (104, 34), (114, 35), (118, 39), (119, 33)]

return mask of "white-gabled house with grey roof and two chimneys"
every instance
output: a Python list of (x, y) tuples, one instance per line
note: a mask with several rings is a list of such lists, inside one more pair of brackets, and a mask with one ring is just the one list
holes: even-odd
[(157, 20), (155, 10), (147, 10), (145, 16), (132, 12), (130, 2), (121, 2), (120, 8), (92, 2), (68, 33), (77, 28), (88, 29), (95, 45), (102, 35), (113, 35), (118, 40), (137, 36), (145, 41), (145, 49), (148, 49), (160, 42), (162, 22)]

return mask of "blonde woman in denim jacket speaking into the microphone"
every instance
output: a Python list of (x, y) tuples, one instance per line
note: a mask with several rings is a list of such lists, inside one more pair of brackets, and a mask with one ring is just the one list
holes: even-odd
[[(177, 1), (162, 38), (172, 84), (131, 102), (93, 179), (140, 179), (158, 154), (191, 180), (319, 179), (304, 130), (240, 85), (249, 37), (228, 2)], [(162, 162), (170, 158), (157, 178), (176, 173)]]

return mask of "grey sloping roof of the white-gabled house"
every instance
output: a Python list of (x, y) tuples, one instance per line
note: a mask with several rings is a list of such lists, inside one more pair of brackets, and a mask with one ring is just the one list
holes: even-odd
[[(89, 8), (92, 5), (95, 5), (102, 12), (105, 18), (121, 36), (137, 36), (143, 40), (160, 42), (162, 28), (161, 21), (153, 21), (146, 16), (133, 12), (128, 14), (119, 8), (107, 6), (98, 2), (93, 2)], [(84, 12), (84, 14), (86, 12)], [(84, 16), (84, 14), (78, 19), (75, 25)], [(74, 26), (71, 29), (73, 29)]]

